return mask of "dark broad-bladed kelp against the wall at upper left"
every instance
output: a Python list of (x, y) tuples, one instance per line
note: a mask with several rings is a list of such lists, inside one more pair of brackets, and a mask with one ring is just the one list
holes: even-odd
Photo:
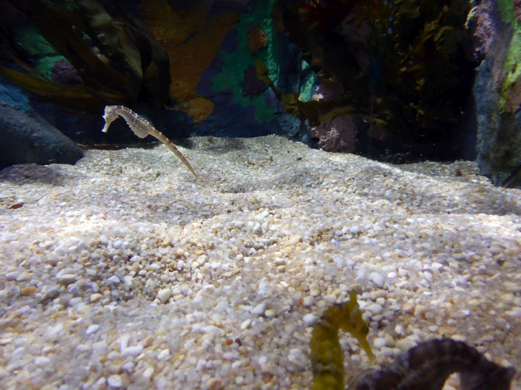
[[(168, 56), (152, 34), (117, 2), (94, 0), (8, 0), (34, 23), (40, 39), (65, 57), (78, 73), (79, 83), (61, 85), (27, 73), (0, 67), (0, 74), (37, 96), (82, 111), (107, 104), (147, 101), (160, 108), (169, 101)], [(9, 26), (2, 26), (8, 30)], [(11, 28), (13, 30), (14, 28)], [(16, 37), (11, 32), (5, 36)], [(23, 53), (17, 40), (10, 45)], [(13, 56), (11, 56), (13, 57)], [(30, 59), (14, 58), (30, 69)], [(29, 65), (28, 65), (29, 64)]]

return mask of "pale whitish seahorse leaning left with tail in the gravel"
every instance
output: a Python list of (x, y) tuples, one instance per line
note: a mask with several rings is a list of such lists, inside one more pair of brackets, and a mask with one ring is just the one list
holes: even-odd
[(107, 106), (105, 107), (105, 113), (103, 115), (103, 119), (105, 119), (105, 126), (103, 126), (102, 132), (106, 133), (108, 131), (108, 127), (110, 124), (121, 116), (121, 118), (125, 119), (130, 129), (137, 135), (139, 138), (145, 138), (147, 135), (151, 135), (161, 142), (165, 144), (165, 146), (170, 149), (173, 153), (179, 157), (182, 163), (192, 172), (192, 174), (197, 177), (195, 171), (192, 168), (192, 165), (188, 162), (188, 160), (182, 155), (179, 149), (176, 148), (172, 142), (160, 133), (150, 122), (141, 118), (137, 113), (132, 111), (130, 108), (124, 106)]

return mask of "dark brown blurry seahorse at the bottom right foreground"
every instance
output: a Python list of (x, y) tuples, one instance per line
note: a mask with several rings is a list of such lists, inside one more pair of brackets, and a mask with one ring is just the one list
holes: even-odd
[(476, 348), (452, 339), (426, 341), (383, 370), (362, 375), (349, 390), (441, 390), (460, 373), (461, 390), (508, 390), (516, 370), (488, 360)]

